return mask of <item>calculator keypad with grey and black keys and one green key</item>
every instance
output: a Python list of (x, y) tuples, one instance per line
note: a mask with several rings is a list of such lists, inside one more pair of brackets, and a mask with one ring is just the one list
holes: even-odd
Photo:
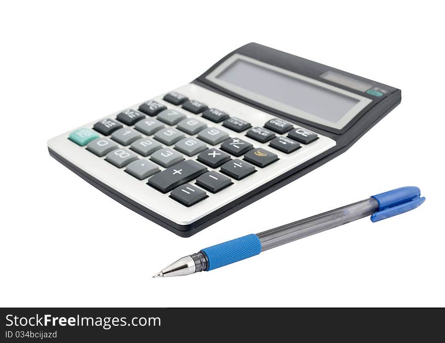
[[(224, 98), (216, 93), (214, 97)], [(69, 138), (77, 148), (85, 146), (91, 158), (109, 162), (107, 168), (127, 174), (117, 184), (119, 187), (136, 182), (125, 194), (138, 193), (142, 187), (143, 197), (147, 197), (145, 206), (156, 211), (159, 208), (166, 217), (171, 214), (172, 220), (175, 214), (165, 211), (164, 206), (173, 206), (175, 211), (179, 208), (174, 206), (182, 205), (190, 207), (188, 211), (208, 211), (213, 203), (222, 206), (225, 199), (239, 198), (244, 189), (251, 190), (250, 185), (266, 182), (269, 171), (280, 175), (289, 170), (282, 168), (286, 163), (282, 161), (295, 159), (301, 151), (304, 155), (308, 147), (320, 146), (311, 143), (317, 140), (316, 133), (246, 109), (244, 104), (237, 103), (241, 106), (238, 111), (238, 107), (225, 106), (226, 99), (202, 99), (187, 91), (171, 92), (121, 111), (113, 119), (93, 122), (89, 127), (94, 130), (86, 126), (71, 132)], [(303, 144), (296, 141), (297, 137)], [(328, 139), (321, 137), (323, 142)], [(114, 175), (111, 170), (103, 170), (105, 181), (109, 174)], [(172, 205), (164, 204), (159, 196)]]

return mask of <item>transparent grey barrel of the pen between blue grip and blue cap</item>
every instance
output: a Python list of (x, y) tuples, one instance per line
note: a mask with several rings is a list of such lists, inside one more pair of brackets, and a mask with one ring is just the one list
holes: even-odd
[(261, 251), (269, 250), (298, 239), (315, 235), (373, 214), (379, 208), (377, 200), (368, 198), (335, 210), (272, 228), (257, 234)]

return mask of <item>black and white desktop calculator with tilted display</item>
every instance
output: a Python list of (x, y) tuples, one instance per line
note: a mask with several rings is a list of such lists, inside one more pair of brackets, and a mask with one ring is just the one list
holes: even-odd
[(48, 148), (114, 200), (189, 237), (343, 153), (400, 94), (250, 43), (193, 82), (94, 118)]

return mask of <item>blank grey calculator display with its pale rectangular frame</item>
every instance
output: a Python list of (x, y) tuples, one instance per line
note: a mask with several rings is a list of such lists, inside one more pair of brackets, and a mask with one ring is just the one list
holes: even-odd
[[(295, 117), (343, 128), (371, 100), (246, 56), (215, 69), (210, 79), (235, 93)], [(233, 57), (233, 56), (232, 56)], [(228, 62), (228, 61), (226, 61)]]

